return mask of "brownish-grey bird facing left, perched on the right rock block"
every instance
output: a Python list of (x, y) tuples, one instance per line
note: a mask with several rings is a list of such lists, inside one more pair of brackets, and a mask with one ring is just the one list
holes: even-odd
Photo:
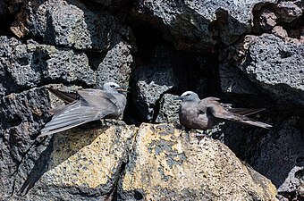
[(247, 117), (249, 114), (261, 112), (265, 108), (232, 108), (230, 104), (220, 103), (220, 99), (217, 97), (199, 99), (198, 94), (193, 91), (186, 91), (175, 99), (182, 100), (179, 119), (180, 123), (188, 129), (208, 130), (224, 121), (241, 122), (264, 129), (272, 127), (267, 123)]

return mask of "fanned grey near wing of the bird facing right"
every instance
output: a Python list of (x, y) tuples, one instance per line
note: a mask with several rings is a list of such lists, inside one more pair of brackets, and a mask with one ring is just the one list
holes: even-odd
[(81, 90), (79, 94), (79, 100), (55, 110), (52, 120), (41, 130), (40, 137), (72, 129), (117, 112), (118, 108), (113, 102), (115, 98), (109, 93), (95, 89)]

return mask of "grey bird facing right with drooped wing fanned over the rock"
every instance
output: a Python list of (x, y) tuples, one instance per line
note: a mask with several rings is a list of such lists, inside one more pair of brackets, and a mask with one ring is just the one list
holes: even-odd
[(69, 130), (89, 121), (119, 118), (127, 103), (124, 92), (128, 92), (114, 82), (106, 82), (103, 89), (87, 88), (77, 93), (63, 92), (47, 88), (67, 105), (52, 109), (52, 120), (40, 130), (38, 137), (44, 137), (63, 130)]

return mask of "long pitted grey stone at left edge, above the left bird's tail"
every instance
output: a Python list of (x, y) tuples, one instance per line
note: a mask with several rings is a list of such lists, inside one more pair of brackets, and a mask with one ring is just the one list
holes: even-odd
[(32, 88), (46, 80), (80, 81), (88, 85), (96, 81), (86, 54), (31, 40), (21, 44), (15, 38), (1, 37), (0, 41), (5, 44), (0, 52), (2, 91)]

